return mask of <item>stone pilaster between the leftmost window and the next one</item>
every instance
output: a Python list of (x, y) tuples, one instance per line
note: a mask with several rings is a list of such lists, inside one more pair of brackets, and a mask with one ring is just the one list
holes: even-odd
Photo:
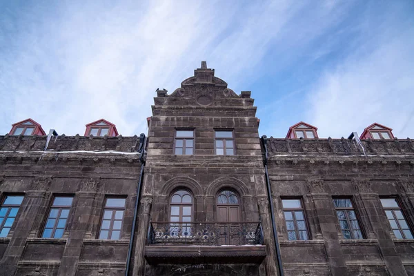
[(21, 203), (19, 220), (14, 221), (14, 231), (8, 248), (0, 262), (0, 275), (14, 275), (17, 264), (23, 254), (26, 240), (30, 235), (34, 221), (39, 209), (46, 205), (45, 190), (29, 190)]

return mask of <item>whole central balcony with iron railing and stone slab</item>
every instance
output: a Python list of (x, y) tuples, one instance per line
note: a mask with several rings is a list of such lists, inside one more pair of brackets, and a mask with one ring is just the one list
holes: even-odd
[(152, 222), (148, 264), (261, 264), (266, 257), (258, 222)]

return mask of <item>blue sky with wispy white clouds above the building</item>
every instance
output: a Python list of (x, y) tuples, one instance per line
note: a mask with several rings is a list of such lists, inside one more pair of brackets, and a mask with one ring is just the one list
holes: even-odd
[(147, 132), (157, 88), (200, 61), (251, 90), (260, 135), (306, 121), (414, 137), (414, 1), (1, 1), (0, 134), (31, 117), (83, 135)]

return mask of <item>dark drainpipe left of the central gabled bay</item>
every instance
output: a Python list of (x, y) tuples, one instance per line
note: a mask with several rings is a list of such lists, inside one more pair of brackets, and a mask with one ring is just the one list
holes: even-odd
[(134, 233), (135, 233), (135, 224), (137, 224), (139, 197), (141, 196), (141, 184), (142, 184), (142, 178), (144, 177), (145, 146), (146, 146), (146, 137), (145, 137), (144, 133), (141, 133), (141, 135), (139, 135), (139, 147), (138, 147), (138, 152), (140, 153), (139, 161), (141, 161), (141, 172), (139, 173), (139, 181), (138, 181), (138, 186), (137, 186), (137, 199), (135, 199), (134, 221), (132, 221), (131, 237), (130, 237), (130, 243), (129, 243), (129, 246), (128, 246), (128, 257), (126, 259), (125, 276), (128, 276), (128, 272), (129, 272), (129, 269), (130, 269), (130, 262), (131, 262), (131, 255), (132, 255), (132, 245), (134, 244)]

